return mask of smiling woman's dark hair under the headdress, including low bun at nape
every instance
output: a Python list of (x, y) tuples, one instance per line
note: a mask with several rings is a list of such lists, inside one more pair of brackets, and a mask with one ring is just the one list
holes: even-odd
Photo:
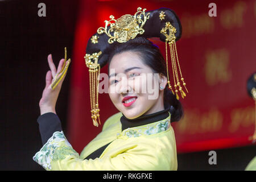
[[(138, 53), (143, 63), (148, 65), (155, 73), (162, 73), (167, 77), (166, 61), (162, 53), (160, 53), (157, 46), (146, 38), (138, 37), (131, 39), (126, 43), (114, 46), (112, 50), (108, 51), (110, 51), (109, 65), (114, 55), (125, 51), (133, 51)], [(164, 109), (167, 108), (169, 108), (171, 113), (171, 122), (179, 121), (183, 116), (183, 107), (180, 101), (176, 99), (176, 96), (168, 89), (168, 84), (166, 88), (164, 88)]]

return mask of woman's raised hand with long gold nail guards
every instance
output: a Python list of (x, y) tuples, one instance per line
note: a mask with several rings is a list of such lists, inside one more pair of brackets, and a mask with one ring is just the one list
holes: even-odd
[(70, 59), (68, 61), (61, 59), (56, 70), (52, 55), (48, 55), (48, 64), (51, 70), (46, 73), (46, 87), (43, 90), (42, 98), (39, 102), (41, 115), (48, 112), (56, 114), (55, 106), (57, 98), (60, 93), (61, 85), (65, 79), (69, 63)]

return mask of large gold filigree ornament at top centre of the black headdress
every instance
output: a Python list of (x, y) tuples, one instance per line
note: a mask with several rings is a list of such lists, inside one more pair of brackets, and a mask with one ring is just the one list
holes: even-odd
[[(110, 15), (110, 20), (105, 20), (105, 28), (100, 27), (97, 30), (98, 34), (105, 33), (109, 36), (108, 43), (112, 44), (115, 41), (119, 43), (127, 42), (130, 39), (134, 39), (138, 34), (143, 34), (144, 29), (142, 28), (149, 18), (150, 13), (145, 15), (146, 9), (138, 7), (137, 13), (133, 15), (123, 15), (117, 20), (114, 19), (113, 15)], [(143, 19), (141, 17), (143, 14)], [(108, 26), (110, 28), (108, 30)], [(110, 34), (110, 32), (114, 32), (114, 36)]]

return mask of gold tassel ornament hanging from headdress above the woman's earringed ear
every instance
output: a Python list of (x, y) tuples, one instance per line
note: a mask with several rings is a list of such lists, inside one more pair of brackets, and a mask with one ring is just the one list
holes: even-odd
[[(171, 53), (171, 61), (172, 61), (172, 73), (174, 76), (174, 87), (175, 87), (175, 93), (176, 93), (176, 98), (177, 100), (179, 100), (179, 95), (178, 92), (180, 91), (181, 97), (184, 98), (186, 96), (185, 92), (182, 90), (182, 86), (180, 85), (180, 81), (179, 81), (179, 73), (177, 71), (177, 65), (179, 67), (179, 72), (180, 72), (180, 77), (181, 77), (181, 81), (183, 82), (183, 86), (186, 88), (186, 84), (184, 82), (184, 78), (182, 77), (182, 73), (181, 73), (181, 69), (180, 69), (180, 64), (179, 64), (179, 59), (177, 57), (177, 49), (176, 49), (176, 28), (173, 27), (171, 25), (170, 22), (166, 22), (166, 26), (162, 28), (162, 30), (160, 31), (161, 34), (163, 34), (164, 36), (166, 36), (166, 68), (167, 68), (167, 83), (168, 83), (168, 88), (170, 88), (172, 90), (172, 86), (170, 84), (170, 80), (169, 80), (169, 73), (168, 73), (168, 50), (167, 50), (167, 43), (169, 44), (170, 47), (170, 53)], [(177, 63), (177, 64), (176, 64)], [(179, 86), (179, 90), (177, 90), (177, 86)], [(174, 93), (174, 91), (172, 90), (172, 93)], [(187, 90), (188, 93), (188, 90)]]

